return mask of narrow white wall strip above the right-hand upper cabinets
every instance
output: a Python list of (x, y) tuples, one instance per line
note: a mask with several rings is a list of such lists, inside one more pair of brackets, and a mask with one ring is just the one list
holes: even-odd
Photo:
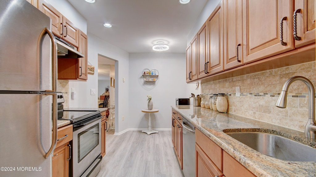
[(202, 25), (205, 23), (205, 21), (209, 18), (210, 14), (213, 12), (213, 10), (216, 8), (216, 6), (220, 3), (221, 0), (209, 0), (203, 10), (201, 11), (200, 15), (197, 17), (196, 22), (191, 28), (191, 31), (188, 34), (187, 38), (187, 45), (191, 42), (193, 37), (197, 34), (197, 32), (200, 30)]

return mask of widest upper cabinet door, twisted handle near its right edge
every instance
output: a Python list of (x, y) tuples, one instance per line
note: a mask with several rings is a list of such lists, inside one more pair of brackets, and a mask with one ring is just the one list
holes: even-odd
[[(244, 63), (294, 49), (292, 9), (289, 0), (243, 0)], [(283, 20), (282, 45), (280, 21), (283, 17), (286, 20)]]

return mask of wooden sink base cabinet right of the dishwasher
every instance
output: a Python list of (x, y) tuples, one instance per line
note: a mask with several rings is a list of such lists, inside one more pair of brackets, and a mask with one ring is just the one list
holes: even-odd
[(195, 140), (196, 177), (255, 177), (198, 129), (195, 129)]

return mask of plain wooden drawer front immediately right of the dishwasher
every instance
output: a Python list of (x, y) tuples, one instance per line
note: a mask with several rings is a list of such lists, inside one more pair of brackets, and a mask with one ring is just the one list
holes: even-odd
[(195, 141), (212, 162), (222, 170), (222, 148), (198, 129), (195, 129)]

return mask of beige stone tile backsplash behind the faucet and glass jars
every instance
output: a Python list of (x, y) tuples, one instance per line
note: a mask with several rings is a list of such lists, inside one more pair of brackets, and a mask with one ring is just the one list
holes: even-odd
[[(283, 84), (290, 77), (306, 77), (315, 87), (315, 64), (312, 61), (202, 83), (201, 93), (226, 93), (230, 113), (304, 131), (308, 121), (308, 89), (305, 83), (295, 81), (290, 85), (286, 108), (278, 108), (275, 104)], [(240, 86), (240, 97), (235, 96), (236, 86)]]

